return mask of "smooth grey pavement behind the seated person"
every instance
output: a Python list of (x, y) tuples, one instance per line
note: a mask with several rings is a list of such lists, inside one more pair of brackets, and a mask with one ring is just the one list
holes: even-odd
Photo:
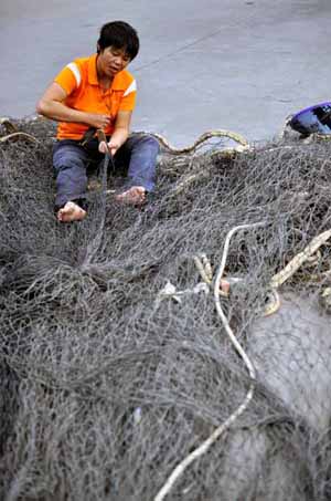
[(175, 146), (214, 128), (265, 140), (289, 113), (331, 98), (330, 0), (1, 0), (0, 116), (34, 114), (53, 76), (93, 53), (115, 19), (141, 40), (132, 126)]

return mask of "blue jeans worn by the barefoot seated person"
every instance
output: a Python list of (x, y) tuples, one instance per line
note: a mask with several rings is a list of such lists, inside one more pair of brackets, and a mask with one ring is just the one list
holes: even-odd
[[(147, 191), (154, 189), (159, 149), (159, 143), (152, 136), (132, 134), (116, 152), (115, 167), (126, 166), (126, 189), (132, 186), (142, 186)], [(56, 176), (56, 209), (70, 200), (75, 200), (86, 208), (86, 170), (88, 167), (97, 168), (103, 158), (104, 155), (98, 152), (97, 139), (86, 146), (72, 139), (55, 143), (53, 167)]]

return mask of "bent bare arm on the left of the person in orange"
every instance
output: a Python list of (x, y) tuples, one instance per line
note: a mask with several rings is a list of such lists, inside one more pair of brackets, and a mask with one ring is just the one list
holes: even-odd
[(106, 128), (110, 123), (108, 115), (81, 112), (65, 104), (67, 93), (53, 82), (45, 91), (36, 105), (36, 113), (56, 122), (76, 122), (90, 127)]

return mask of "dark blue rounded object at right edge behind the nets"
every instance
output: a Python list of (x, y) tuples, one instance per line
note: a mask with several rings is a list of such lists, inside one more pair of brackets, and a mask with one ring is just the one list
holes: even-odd
[(331, 102), (309, 106), (297, 113), (289, 122), (300, 134), (331, 134)]

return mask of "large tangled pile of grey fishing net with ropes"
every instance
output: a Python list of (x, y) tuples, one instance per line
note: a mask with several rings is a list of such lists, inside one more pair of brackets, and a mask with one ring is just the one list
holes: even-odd
[(330, 143), (164, 148), (141, 210), (95, 189), (60, 225), (53, 126), (17, 126), (0, 128), (0, 498), (329, 500)]

